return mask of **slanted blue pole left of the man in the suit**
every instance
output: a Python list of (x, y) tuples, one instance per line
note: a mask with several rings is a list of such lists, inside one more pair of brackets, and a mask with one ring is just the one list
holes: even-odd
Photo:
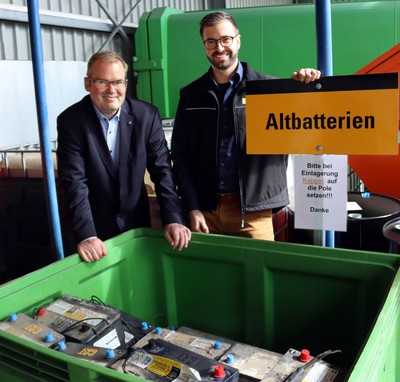
[(46, 186), (47, 214), (50, 222), (53, 249), (56, 252), (57, 259), (60, 260), (64, 258), (64, 250), (61, 236), (60, 215), (58, 213), (54, 165), (49, 134), (49, 118), (47, 112), (46, 86), (43, 69), (43, 47), (40, 33), (39, 4), (38, 0), (29, 0), (27, 3), (33, 77), (35, 81), (36, 110), (39, 124), (40, 151)]

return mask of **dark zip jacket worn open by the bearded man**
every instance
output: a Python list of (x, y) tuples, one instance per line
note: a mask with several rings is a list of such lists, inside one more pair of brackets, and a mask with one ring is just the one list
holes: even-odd
[[(233, 98), (239, 160), (242, 212), (283, 207), (289, 203), (286, 155), (247, 155), (245, 142), (246, 80), (271, 79), (242, 62), (244, 75)], [(172, 161), (178, 191), (190, 211), (215, 210), (217, 205), (217, 96), (210, 73), (181, 90), (172, 136)]]

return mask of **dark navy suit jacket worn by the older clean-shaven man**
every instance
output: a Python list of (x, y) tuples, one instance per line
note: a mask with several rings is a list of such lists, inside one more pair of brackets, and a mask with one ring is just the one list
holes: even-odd
[(163, 223), (182, 223), (157, 109), (126, 99), (118, 128), (116, 166), (89, 96), (57, 118), (58, 173), (77, 242), (96, 235), (105, 240), (150, 225), (146, 167), (155, 183)]

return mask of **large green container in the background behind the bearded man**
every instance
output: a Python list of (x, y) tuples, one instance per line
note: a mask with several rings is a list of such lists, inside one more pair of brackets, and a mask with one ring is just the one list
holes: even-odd
[[(294, 70), (317, 66), (315, 6), (236, 8), (240, 59), (262, 73), (287, 78)], [(174, 117), (179, 89), (209, 67), (199, 22), (210, 11), (158, 8), (142, 15), (135, 35), (137, 94)], [(332, 4), (333, 72), (353, 74), (399, 42), (400, 1)]]

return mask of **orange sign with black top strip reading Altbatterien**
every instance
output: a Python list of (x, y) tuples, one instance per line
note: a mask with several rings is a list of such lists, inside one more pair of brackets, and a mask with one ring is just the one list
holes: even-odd
[(249, 81), (248, 154), (397, 154), (396, 74)]

